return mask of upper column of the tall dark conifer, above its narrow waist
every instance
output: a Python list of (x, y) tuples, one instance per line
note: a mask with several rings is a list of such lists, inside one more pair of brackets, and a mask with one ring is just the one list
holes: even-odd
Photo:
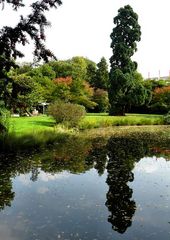
[(122, 72), (130, 73), (136, 70), (137, 64), (131, 57), (137, 50), (137, 41), (140, 41), (140, 26), (138, 15), (132, 7), (127, 5), (118, 10), (118, 15), (114, 18), (116, 25), (111, 33), (111, 48), (113, 56), (110, 59), (111, 68), (121, 69)]

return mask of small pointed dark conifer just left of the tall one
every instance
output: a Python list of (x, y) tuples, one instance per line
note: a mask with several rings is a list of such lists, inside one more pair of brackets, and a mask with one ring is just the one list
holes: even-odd
[(109, 82), (108, 64), (104, 57), (97, 64), (96, 78), (94, 82), (95, 88), (107, 90)]

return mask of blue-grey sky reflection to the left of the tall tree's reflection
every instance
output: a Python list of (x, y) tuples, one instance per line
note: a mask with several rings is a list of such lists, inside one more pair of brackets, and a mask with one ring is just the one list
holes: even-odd
[[(31, 182), (30, 177), (21, 175), (13, 180), (16, 195), (12, 207), (0, 214), (3, 231), (11, 234), (9, 240), (104, 239), (107, 232), (112, 233), (105, 207), (106, 174), (40, 171), (38, 181)], [(5, 221), (7, 225), (2, 225)]]

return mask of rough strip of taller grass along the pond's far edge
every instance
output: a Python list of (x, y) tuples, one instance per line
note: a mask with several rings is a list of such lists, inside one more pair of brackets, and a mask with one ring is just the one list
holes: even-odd
[(105, 139), (110, 137), (132, 137), (141, 140), (146, 140), (158, 145), (170, 147), (170, 126), (120, 126), (107, 127), (85, 130), (82, 132), (76, 131), (60, 131), (44, 130), (39, 132), (31, 132), (30, 134), (9, 133), (8, 135), (0, 136), (0, 152), (4, 153), (22, 153), (34, 150), (41, 150), (57, 146), (59, 143), (65, 143), (68, 139), (75, 142), (75, 139), (84, 139), (93, 141), (97, 139)]

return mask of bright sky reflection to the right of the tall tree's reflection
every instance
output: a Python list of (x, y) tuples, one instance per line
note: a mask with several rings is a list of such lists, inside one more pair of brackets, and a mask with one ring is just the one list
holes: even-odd
[(145, 157), (133, 172), (135, 181), (129, 184), (137, 203), (133, 228), (144, 239), (170, 239), (170, 162)]

